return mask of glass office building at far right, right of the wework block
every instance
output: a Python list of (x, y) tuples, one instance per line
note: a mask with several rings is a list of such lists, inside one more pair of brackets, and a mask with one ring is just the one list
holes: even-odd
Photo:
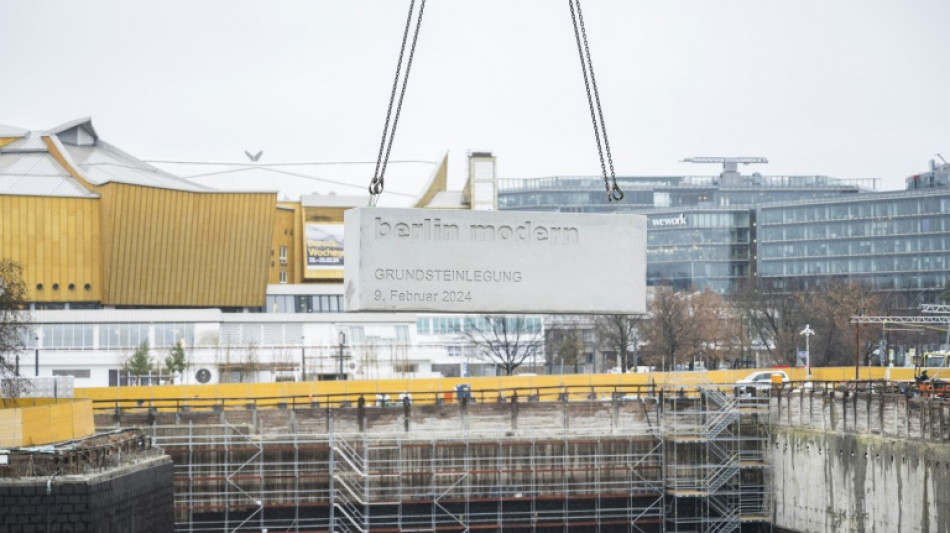
[(914, 300), (950, 279), (950, 189), (862, 194), (757, 208), (758, 275), (776, 289), (844, 278)]

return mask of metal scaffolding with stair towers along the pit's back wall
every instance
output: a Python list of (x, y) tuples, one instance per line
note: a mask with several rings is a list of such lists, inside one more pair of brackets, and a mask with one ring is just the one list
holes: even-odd
[[(293, 416), (289, 432), (268, 430), (258, 420), (264, 411), (254, 422), (228, 424), (222, 413), (221, 424), (154, 425), (151, 432), (175, 462), (177, 531), (720, 532), (750, 521), (768, 526), (767, 397), (691, 387), (607, 402), (562, 405), (612, 410), (619, 420), (610, 428), (544, 427), (538, 417), (534, 426), (526, 420), (515, 431), (467, 423), (452, 432), (342, 432), (334, 431), (334, 420), (352, 428), (342, 421), (355, 409), (332, 408), (320, 432), (308, 432), (304, 428), (313, 425)], [(433, 418), (459, 409), (427, 407)], [(401, 412), (372, 410), (379, 417)]]

